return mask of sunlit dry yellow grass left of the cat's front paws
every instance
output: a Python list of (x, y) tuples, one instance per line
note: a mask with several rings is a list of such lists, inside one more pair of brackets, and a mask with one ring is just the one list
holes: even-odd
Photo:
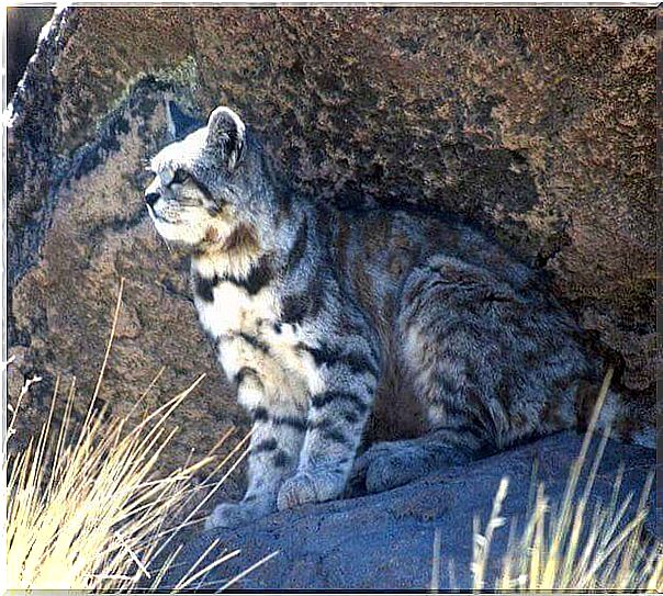
[[(122, 419), (108, 420), (103, 412), (95, 412), (94, 402), (113, 342), (121, 300), (122, 286), (104, 363), (85, 423), (76, 431), (72, 428), (72, 384), (63, 423), (56, 431), (53, 424), (59, 389), (56, 383), (48, 420), (36, 440), (13, 457), (8, 456), (8, 445), (3, 445), (3, 472), (9, 479), (7, 584), (12, 589), (131, 592), (138, 583), (158, 588), (178, 558), (177, 539), (181, 530), (198, 521), (201, 508), (246, 456), (247, 437), (227, 457), (215, 456), (229, 436), (227, 432), (201, 461), (156, 477), (155, 466), (177, 430), (167, 430), (166, 423), (204, 375), (133, 428), (128, 424), (132, 413)], [(30, 384), (37, 381), (25, 383), (12, 408), (8, 440), (21, 400)], [(209, 492), (201, 498), (191, 479), (203, 466), (213, 469), (203, 482)], [(216, 480), (221, 470), (225, 473)], [(173, 519), (180, 521), (167, 527)], [(216, 542), (209, 551), (214, 547)], [(194, 586), (213, 567), (238, 553), (226, 553), (204, 567), (201, 556), (173, 589)]]

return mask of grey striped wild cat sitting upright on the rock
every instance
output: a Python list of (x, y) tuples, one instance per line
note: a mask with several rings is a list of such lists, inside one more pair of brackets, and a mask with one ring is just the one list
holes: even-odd
[[(583, 415), (598, 371), (578, 327), (477, 230), (299, 194), (223, 106), (150, 167), (149, 215), (189, 248), (200, 322), (254, 420), (246, 496), (207, 527), (337, 498), (352, 471), (384, 491)], [(355, 462), (375, 396), (400, 392), (427, 434)]]

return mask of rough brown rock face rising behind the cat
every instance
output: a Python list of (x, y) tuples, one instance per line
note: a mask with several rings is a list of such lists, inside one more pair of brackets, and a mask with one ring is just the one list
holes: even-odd
[[(146, 407), (207, 373), (164, 456), (246, 428), (147, 220), (165, 99), (232, 105), (302, 190), (340, 206), (452, 211), (549, 274), (621, 391), (653, 419), (655, 12), (643, 9), (77, 8), (57, 12), (9, 135), (12, 386), (45, 417), (57, 373), (85, 412)], [(232, 491), (231, 491), (232, 492)]]

